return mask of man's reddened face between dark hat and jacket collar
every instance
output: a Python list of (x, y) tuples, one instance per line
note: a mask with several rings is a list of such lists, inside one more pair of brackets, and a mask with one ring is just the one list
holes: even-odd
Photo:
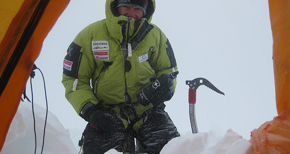
[(143, 10), (135, 6), (120, 6), (118, 12), (120, 15), (131, 17), (136, 20), (141, 20), (143, 18)]

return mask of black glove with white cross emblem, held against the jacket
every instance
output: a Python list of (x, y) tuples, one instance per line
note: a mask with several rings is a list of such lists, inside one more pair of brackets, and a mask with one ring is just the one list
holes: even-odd
[(173, 96), (173, 79), (179, 72), (171, 72), (170, 74), (164, 73), (156, 79), (150, 79), (151, 83), (137, 94), (137, 100), (143, 106), (152, 103), (158, 106), (165, 101), (168, 101)]

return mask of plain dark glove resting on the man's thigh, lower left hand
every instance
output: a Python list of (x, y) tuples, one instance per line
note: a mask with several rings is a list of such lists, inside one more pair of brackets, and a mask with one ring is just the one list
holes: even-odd
[[(89, 106), (89, 107), (88, 107)], [(124, 132), (125, 126), (117, 115), (100, 111), (100, 107), (89, 102), (85, 104), (80, 112), (80, 116), (90, 123), (96, 131), (105, 133)], [(85, 110), (85, 111), (83, 111)]]

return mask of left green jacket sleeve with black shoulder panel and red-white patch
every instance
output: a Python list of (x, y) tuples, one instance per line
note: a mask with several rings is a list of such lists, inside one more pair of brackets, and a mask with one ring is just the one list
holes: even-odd
[(97, 98), (90, 86), (90, 79), (95, 69), (92, 55), (86, 50), (80, 32), (68, 47), (64, 58), (63, 79), (65, 97), (73, 108), (80, 113), (85, 103), (91, 101), (97, 104)]

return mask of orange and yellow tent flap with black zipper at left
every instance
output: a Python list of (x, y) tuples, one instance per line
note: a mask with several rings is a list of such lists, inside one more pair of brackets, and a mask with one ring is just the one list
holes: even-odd
[(0, 1), (0, 151), (42, 43), (69, 2)]

